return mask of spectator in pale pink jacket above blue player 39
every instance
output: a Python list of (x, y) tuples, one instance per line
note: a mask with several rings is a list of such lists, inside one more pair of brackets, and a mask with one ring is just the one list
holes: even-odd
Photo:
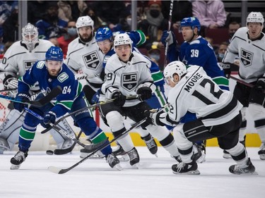
[[(210, 29), (216, 29), (225, 25), (226, 13), (223, 1), (195, 0), (192, 2), (192, 13), (194, 17), (199, 19), (201, 27), (203, 28), (208, 27)], [(202, 31), (204, 30), (201, 29), (201, 33), (203, 35)]]

